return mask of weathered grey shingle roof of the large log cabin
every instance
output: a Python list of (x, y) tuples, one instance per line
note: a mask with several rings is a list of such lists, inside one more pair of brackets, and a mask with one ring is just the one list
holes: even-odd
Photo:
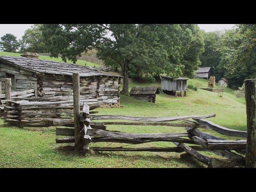
[(74, 72), (79, 72), (81, 77), (87, 76), (118, 76), (116, 74), (101, 72), (98, 69), (89, 66), (79, 66), (71, 63), (62, 63), (56, 61), (48, 61), (43, 59), (33, 59), (17, 56), (0, 56), (0, 61), (8, 62), (24, 70), (30, 70), (37, 73), (57, 74), (72, 76)]

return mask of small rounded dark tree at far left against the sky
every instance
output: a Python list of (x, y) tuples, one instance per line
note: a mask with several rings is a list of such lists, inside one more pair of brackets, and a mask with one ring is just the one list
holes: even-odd
[(19, 47), (16, 36), (7, 33), (1, 37), (0, 48), (6, 52), (15, 52)]

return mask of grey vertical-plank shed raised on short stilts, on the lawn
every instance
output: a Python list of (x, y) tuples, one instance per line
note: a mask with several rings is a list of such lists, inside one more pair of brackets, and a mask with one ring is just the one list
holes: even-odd
[(182, 96), (182, 92), (184, 92), (184, 96), (187, 96), (187, 80), (188, 78), (179, 77), (174, 80), (172, 77), (161, 76), (161, 90), (167, 94), (175, 94), (178, 96), (178, 92), (180, 92), (180, 96)]

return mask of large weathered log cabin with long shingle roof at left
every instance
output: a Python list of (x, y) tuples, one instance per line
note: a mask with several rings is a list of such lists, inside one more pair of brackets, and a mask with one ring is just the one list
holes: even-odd
[(39, 97), (72, 98), (74, 72), (80, 74), (81, 100), (119, 104), (121, 76), (89, 66), (38, 59), (35, 54), (0, 56), (3, 91), (5, 78), (11, 78), (12, 91), (36, 88)]

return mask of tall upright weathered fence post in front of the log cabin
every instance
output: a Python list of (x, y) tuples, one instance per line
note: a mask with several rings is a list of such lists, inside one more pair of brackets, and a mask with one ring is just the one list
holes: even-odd
[(80, 78), (79, 73), (73, 73), (73, 99), (74, 99), (74, 128), (75, 128), (75, 150), (76, 152), (84, 149), (83, 138), (80, 134)]

